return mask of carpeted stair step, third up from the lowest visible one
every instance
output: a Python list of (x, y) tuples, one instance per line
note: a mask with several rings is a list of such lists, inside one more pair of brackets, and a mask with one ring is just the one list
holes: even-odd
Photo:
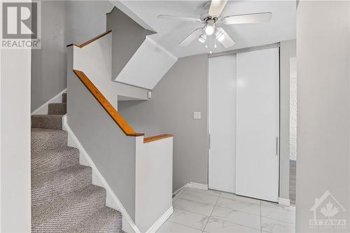
[(57, 197), (91, 184), (91, 167), (76, 165), (31, 178), (31, 206), (51, 202)]

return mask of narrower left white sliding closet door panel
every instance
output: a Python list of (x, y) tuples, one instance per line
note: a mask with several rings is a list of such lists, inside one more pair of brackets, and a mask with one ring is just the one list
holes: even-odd
[(236, 55), (209, 58), (209, 188), (235, 192)]

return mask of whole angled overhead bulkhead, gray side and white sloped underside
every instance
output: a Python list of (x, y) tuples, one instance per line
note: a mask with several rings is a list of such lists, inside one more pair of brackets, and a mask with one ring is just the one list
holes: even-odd
[(107, 29), (113, 33), (112, 79), (119, 83), (152, 90), (177, 61), (153, 41), (154, 31), (141, 27), (116, 7), (107, 14)]

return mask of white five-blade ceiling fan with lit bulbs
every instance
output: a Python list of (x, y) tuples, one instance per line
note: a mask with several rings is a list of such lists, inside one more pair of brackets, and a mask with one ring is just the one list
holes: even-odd
[[(186, 46), (195, 41), (196, 38), (201, 43), (205, 43), (209, 36), (214, 35), (216, 48), (216, 41), (220, 42), (225, 48), (229, 48), (232, 45), (235, 45), (235, 41), (227, 34), (223, 27), (218, 27), (216, 24), (247, 24), (255, 22), (268, 22), (271, 17), (271, 12), (262, 12), (262, 13), (251, 13), (244, 15), (230, 15), (221, 17), (221, 12), (228, 0), (211, 0), (209, 12), (203, 16), (203, 19), (195, 17), (182, 17), (176, 15), (158, 15), (160, 19), (169, 19), (169, 20), (181, 20), (188, 22), (202, 22), (204, 27), (195, 29), (189, 36), (187, 36), (179, 46)], [(207, 48), (207, 45), (206, 45)]]

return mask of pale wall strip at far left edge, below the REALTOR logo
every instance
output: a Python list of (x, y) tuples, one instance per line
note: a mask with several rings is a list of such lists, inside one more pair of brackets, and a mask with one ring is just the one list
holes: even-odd
[(0, 232), (30, 232), (31, 50), (1, 49), (0, 55)]

